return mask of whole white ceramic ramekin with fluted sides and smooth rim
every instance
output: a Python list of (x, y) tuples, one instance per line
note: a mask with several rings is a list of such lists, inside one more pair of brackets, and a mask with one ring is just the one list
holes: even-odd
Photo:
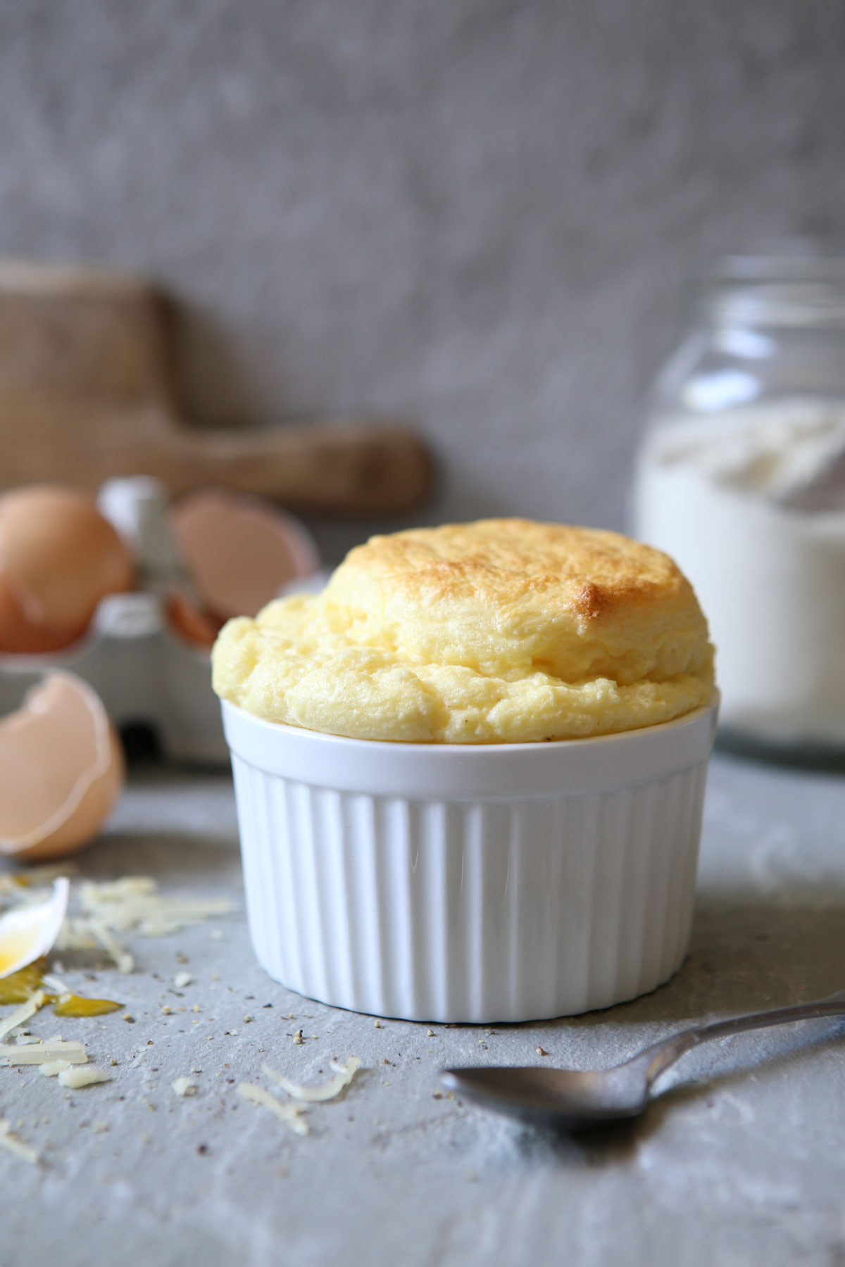
[(549, 744), (395, 744), (223, 703), (264, 968), (379, 1016), (608, 1007), (679, 967), (717, 701)]

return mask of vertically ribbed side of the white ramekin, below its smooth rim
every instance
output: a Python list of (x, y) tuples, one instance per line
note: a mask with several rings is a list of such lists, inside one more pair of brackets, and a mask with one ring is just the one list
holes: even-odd
[(412, 1020), (571, 1015), (652, 990), (687, 949), (706, 764), (505, 805), (336, 792), (234, 756), (258, 960), (309, 997)]

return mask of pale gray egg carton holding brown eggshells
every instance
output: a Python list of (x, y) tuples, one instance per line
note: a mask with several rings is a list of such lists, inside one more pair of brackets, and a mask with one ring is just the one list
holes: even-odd
[[(130, 547), (147, 588), (101, 599), (85, 636), (62, 651), (0, 655), (0, 713), (19, 708), (46, 673), (63, 669), (96, 691), (118, 729), (149, 726), (167, 760), (227, 765), (210, 655), (167, 618), (168, 585), (189, 582), (165, 527), (166, 494), (146, 478), (110, 480), (98, 503)], [(312, 584), (305, 578), (289, 588)]]

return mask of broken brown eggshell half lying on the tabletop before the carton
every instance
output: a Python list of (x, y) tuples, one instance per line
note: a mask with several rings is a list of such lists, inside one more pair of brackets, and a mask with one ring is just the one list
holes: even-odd
[(123, 779), (100, 697), (71, 673), (51, 673), (0, 720), (0, 853), (43, 862), (84, 849)]

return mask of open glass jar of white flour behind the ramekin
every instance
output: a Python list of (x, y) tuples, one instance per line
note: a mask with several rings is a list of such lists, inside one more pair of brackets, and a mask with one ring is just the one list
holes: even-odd
[(728, 258), (698, 288), (632, 519), (707, 613), (722, 737), (845, 754), (845, 260)]

